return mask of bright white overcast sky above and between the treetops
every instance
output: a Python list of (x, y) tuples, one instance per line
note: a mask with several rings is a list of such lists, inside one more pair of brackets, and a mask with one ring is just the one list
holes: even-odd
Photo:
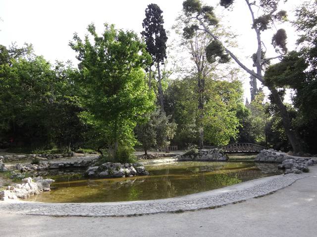
[[(98, 31), (103, 24), (115, 24), (116, 28), (129, 29), (137, 33), (142, 31), (145, 8), (157, 3), (163, 10), (164, 27), (170, 28), (182, 9), (183, 0), (0, 0), (0, 44), (8, 46), (11, 42), (18, 45), (32, 43), (35, 53), (43, 55), (52, 63), (71, 60), (76, 64), (75, 53), (68, 46), (74, 32), (79, 36), (86, 34), (87, 25), (95, 23)], [(219, 0), (206, 0), (215, 6)], [(293, 19), (292, 10), (299, 1), (288, 0), (281, 8), (288, 11)], [(225, 16), (222, 21), (239, 36), (239, 48), (232, 51), (250, 68), (250, 55), (256, 51), (255, 33), (251, 29), (250, 14), (244, 0), (235, 0), (232, 11), (219, 8)], [(279, 29), (278, 26), (276, 26)], [(288, 24), (283, 25), (288, 34), (288, 47), (294, 49), (297, 35)], [(275, 31), (275, 30), (274, 30)], [(263, 35), (268, 49), (267, 56), (275, 56), (270, 45), (273, 32)], [(172, 37), (170, 37), (172, 38)], [(245, 97), (250, 99), (249, 75), (245, 74)]]

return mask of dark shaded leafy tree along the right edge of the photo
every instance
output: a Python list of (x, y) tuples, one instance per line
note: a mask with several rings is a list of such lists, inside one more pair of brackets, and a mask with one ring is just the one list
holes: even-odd
[[(289, 107), (289, 114), (293, 118), (293, 129), (302, 140), (302, 148), (310, 153), (317, 152), (316, 12), (316, 1), (305, 1), (296, 9), (297, 19), (293, 25), (300, 34), (298, 52), (289, 52), (280, 63), (268, 67), (264, 75), (266, 83), (293, 89), (294, 108)], [(275, 111), (278, 116), (279, 111)]]

